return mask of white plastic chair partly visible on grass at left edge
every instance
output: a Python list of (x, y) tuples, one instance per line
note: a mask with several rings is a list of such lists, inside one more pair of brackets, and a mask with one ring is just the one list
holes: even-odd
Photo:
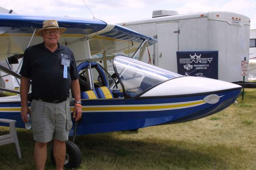
[(10, 134), (0, 136), (0, 146), (6, 145), (8, 143), (15, 143), (18, 156), (21, 159), (20, 145), (19, 145), (19, 141), (18, 141), (18, 137), (17, 137), (17, 132), (15, 129), (16, 120), (0, 119), (0, 122), (9, 123), (9, 125), (10, 125)]

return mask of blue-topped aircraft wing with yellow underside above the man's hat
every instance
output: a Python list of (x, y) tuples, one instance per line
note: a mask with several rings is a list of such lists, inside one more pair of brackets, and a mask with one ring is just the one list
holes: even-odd
[[(16, 54), (23, 54), (35, 29), (42, 28), (44, 20), (58, 20), (60, 27), (66, 27), (60, 43), (72, 49), (76, 60), (84, 58), (84, 43), (90, 39), (91, 55), (128, 54), (136, 51), (147, 40), (148, 45), (157, 41), (136, 31), (115, 24), (107, 24), (97, 19), (82, 19), (52, 16), (28, 16), (19, 14), (0, 14), (0, 60)], [(42, 37), (34, 35), (31, 45), (41, 43)]]

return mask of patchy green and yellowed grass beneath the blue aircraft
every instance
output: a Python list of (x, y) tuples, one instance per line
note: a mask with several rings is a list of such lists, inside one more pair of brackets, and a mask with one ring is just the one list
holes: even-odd
[[(82, 135), (78, 170), (256, 169), (256, 89), (244, 100), (209, 117), (129, 131)], [(22, 160), (14, 144), (0, 150), (0, 170), (34, 170), (32, 132), (17, 129)], [(0, 135), (8, 133), (0, 127)], [(48, 153), (52, 143), (48, 144)], [(46, 170), (54, 170), (48, 154)]]

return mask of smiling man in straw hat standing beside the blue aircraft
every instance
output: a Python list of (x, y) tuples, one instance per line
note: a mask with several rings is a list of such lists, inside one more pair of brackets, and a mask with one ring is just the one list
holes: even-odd
[(44, 42), (28, 47), (24, 53), (21, 74), (21, 118), (28, 121), (29, 81), (32, 80), (31, 119), (36, 168), (43, 170), (47, 158), (47, 143), (53, 139), (56, 170), (62, 170), (69, 130), (72, 128), (69, 90), (75, 98), (73, 117), (82, 115), (78, 72), (70, 49), (58, 43), (66, 28), (56, 20), (46, 20), (36, 31)]

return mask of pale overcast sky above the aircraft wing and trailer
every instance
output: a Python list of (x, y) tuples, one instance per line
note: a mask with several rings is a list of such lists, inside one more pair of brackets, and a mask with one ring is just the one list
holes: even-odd
[[(84, 0), (95, 18), (107, 23), (151, 18), (153, 10), (176, 10), (179, 14), (232, 11), (251, 19), (256, 29), (256, 0)], [(92, 18), (82, 0), (0, 0), (0, 6), (18, 14)]]

